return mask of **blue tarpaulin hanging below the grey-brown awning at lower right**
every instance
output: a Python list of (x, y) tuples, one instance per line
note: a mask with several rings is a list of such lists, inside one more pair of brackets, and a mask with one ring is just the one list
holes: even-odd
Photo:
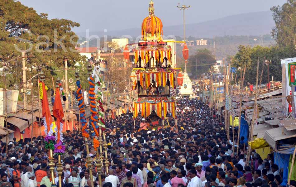
[(283, 182), (282, 186), (286, 186), (288, 183), (288, 171), (289, 171), (289, 161), (290, 155), (289, 154), (281, 154), (275, 152), (275, 164), (279, 166), (279, 169), (283, 168)]

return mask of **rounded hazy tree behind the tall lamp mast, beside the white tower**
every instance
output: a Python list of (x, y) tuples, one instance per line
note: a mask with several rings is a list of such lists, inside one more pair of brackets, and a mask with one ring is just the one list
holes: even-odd
[(190, 55), (187, 64), (187, 72), (193, 77), (208, 72), (211, 65), (216, 63), (214, 55), (208, 49), (199, 49), (194, 55)]

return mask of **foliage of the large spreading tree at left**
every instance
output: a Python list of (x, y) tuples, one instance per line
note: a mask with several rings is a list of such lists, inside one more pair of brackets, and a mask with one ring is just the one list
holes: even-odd
[(78, 37), (71, 28), (76, 26), (79, 23), (66, 19), (49, 20), (47, 14), (38, 15), (20, 2), (0, 0), (0, 68), (7, 88), (23, 86), (22, 50), (27, 50), (27, 79), (42, 69), (50, 88), (51, 77), (55, 79), (57, 72), (64, 69), (64, 59), (68, 59), (69, 71), (74, 69), (74, 64), (83, 60), (75, 51)]

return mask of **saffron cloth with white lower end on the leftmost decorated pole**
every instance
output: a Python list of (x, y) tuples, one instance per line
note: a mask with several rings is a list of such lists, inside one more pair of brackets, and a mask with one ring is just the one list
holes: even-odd
[(46, 136), (52, 136), (53, 133), (53, 122), (50, 114), (49, 104), (47, 100), (46, 86), (44, 82), (41, 82), (42, 89), (42, 122), (44, 125), (44, 131)]

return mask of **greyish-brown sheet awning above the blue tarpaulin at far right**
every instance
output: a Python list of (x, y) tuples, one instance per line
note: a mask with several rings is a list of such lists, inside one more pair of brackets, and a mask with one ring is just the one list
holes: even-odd
[(276, 150), (276, 144), (279, 140), (296, 137), (296, 130), (287, 131), (285, 128), (278, 127), (265, 131), (264, 139)]

